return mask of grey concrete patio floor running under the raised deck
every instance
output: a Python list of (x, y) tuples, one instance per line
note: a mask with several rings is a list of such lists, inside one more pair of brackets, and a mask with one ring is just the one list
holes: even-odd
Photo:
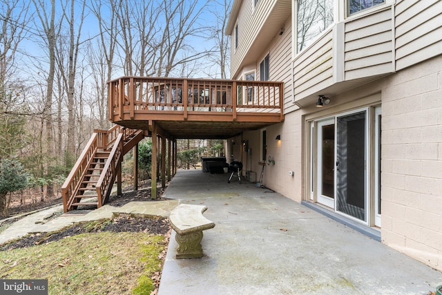
[(203, 258), (176, 260), (159, 294), (430, 294), (442, 274), (269, 189), (179, 171), (164, 198), (204, 204)]

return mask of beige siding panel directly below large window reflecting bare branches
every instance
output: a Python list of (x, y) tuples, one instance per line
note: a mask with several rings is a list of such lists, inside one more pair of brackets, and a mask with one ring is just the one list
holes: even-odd
[(294, 94), (299, 100), (333, 84), (333, 32), (330, 30), (294, 61)]

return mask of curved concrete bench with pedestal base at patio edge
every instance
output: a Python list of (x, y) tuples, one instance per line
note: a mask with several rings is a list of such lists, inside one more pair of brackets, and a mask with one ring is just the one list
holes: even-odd
[(202, 231), (215, 227), (215, 223), (202, 216), (206, 206), (179, 204), (171, 211), (169, 222), (176, 231), (177, 259), (202, 257)]

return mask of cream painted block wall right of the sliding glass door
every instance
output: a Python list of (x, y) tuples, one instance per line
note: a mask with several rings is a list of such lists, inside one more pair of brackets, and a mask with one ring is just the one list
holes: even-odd
[(442, 270), (442, 57), (382, 91), (382, 240)]

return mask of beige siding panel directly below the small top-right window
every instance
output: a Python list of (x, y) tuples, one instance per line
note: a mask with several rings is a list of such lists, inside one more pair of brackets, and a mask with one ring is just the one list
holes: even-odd
[(391, 73), (392, 8), (345, 23), (345, 80)]

